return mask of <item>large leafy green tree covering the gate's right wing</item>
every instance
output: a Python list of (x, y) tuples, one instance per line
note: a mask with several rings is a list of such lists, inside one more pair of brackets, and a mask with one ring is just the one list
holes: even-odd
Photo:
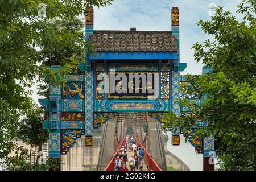
[[(187, 75), (188, 84), (181, 86), (184, 92), (198, 98), (205, 97), (203, 104), (196, 105), (181, 99), (180, 106), (188, 107), (183, 117), (167, 114), (165, 129), (178, 125), (182, 129), (199, 127), (201, 137), (214, 135), (220, 169), (256, 169), (256, 2), (243, 0), (238, 13), (239, 22), (224, 7), (217, 7), (210, 21), (198, 23), (205, 34), (216, 40), (196, 43), (195, 61), (203, 61), (213, 71), (202, 76)], [(207, 121), (202, 127), (199, 121)]]

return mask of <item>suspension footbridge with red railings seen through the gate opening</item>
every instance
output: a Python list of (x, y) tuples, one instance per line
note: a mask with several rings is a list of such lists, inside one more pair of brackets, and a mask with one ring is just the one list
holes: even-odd
[[(125, 138), (133, 131), (137, 146), (144, 151), (143, 169), (151, 166), (153, 171), (166, 170), (164, 140), (161, 124), (147, 113), (118, 113), (117, 118), (109, 119), (102, 126), (100, 155), (97, 170), (113, 171), (115, 156), (124, 146)], [(133, 152), (127, 151), (129, 159)], [(127, 166), (129, 168), (129, 166)], [(129, 169), (130, 170), (130, 169)]]

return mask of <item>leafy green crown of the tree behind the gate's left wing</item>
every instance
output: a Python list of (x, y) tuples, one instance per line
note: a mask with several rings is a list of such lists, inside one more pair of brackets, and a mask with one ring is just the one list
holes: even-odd
[[(59, 81), (62, 85), (65, 82), (64, 75), (82, 74), (77, 64), (84, 61), (85, 49), (90, 49), (86, 51), (87, 53), (96, 52), (92, 44), (85, 42), (83, 19), (55, 19), (51, 21), (51, 24), (53, 24), (55, 34), (59, 36), (60, 43), (51, 42), (47, 37), (40, 44), (42, 48), (40, 50), (40, 63), (48, 68), (46, 72), (48, 79), (40, 80), (42, 84), (38, 86), (38, 94), (44, 97), (48, 97), (49, 80), (53, 79), (55, 83), (58, 81), (55, 76), (49, 76), (48, 72), (59, 73), (58, 78), (60, 78)], [(50, 65), (61, 65), (63, 72), (51, 71)]]

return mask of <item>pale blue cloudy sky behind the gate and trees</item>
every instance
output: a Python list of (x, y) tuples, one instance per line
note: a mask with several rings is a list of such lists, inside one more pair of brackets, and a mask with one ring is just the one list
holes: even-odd
[[(94, 30), (137, 30), (170, 31), (171, 7), (180, 9), (180, 62), (187, 63), (184, 72), (200, 74), (203, 64), (193, 61), (191, 47), (196, 42), (204, 42), (212, 39), (201, 32), (196, 25), (199, 20), (210, 20), (210, 7), (212, 5), (224, 6), (238, 19), (237, 5), (241, 0), (115, 0), (108, 7), (94, 7)], [(36, 85), (32, 87), (32, 97), (38, 102)], [(181, 140), (183, 141), (183, 140)], [(168, 145), (168, 150), (183, 160), (191, 170), (202, 170), (202, 156), (195, 154), (189, 143), (181, 143), (181, 146)]]

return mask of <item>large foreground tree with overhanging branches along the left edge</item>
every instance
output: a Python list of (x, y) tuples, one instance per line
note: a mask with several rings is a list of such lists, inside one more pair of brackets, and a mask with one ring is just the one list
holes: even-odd
[[(113, 0), (3, 0), (0, 1), (0, 159), (7, 160), (15, 143), (16, 126), (20, 116), (28, 114), (32, 108), (30, 99), (34, 80), (47, 77), (53, 83), (57, 76), (68, 75), (77, 66), (72, 60), (58, 71), (40, 64), (42, 40), (48, 43), (65, 44), (54, 30), (54, 19), (75, 18), (84, 13), (85, 7), (109, 5)], [(40, 3), (46, 5), (46, 17), (39, 17), (42, 12)], [(42, 4), (41, 4), (42, 5)]]

